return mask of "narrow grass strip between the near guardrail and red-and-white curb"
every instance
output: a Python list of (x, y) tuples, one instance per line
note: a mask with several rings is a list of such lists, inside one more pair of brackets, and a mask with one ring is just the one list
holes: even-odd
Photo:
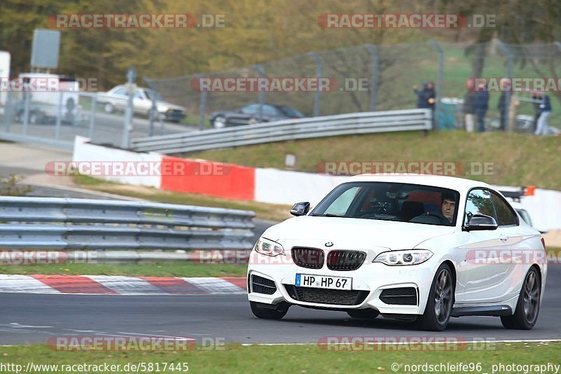
[(64, 263), (1, 265), (0, 274), (124, 275), (129, 277), (245, 277), (247, 265), (229, 263)]

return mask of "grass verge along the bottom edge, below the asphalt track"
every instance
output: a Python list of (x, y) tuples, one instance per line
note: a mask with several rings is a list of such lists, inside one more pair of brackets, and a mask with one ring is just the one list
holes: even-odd
[[(422, 334), (421, 334), (422, 335)], [(492, 373), (492, 365), (507, 364), (559, 364), (561, 343), (496, 343), (488, 349), (466, 349), (457, 351), (442, 350), (405, 350), (397, 351), (327, 351), (318, 345), (282, 345), (282, 346), (242, 346), (227, 344), (223, 350), (205, 350), (202, 347), (188, 352), (60, 352), (46, 345), (15, 345), (0, 347), (1, 362), (27, 366), (34, 364), (72, 365), (120, 364), (127, 363), (163, 363), (187, 362), (189, 372), (193, 373), (394, 373), (392, 364), (398, 364), (398, 373), (405, 373), (405, 365), (423, 363), (481, 363), (481, 370), (471, 373)], [(478, 347), (475, 346), (475, 349)], [(122, 370), (122, 369), (121, 369)], [(465, 369), (464, 369), (465, 370)], [(52, 373), (51, 371), (35, 371)], [(148, 371), (140, 371), (149, 373)], [(156, 370), (152, 371), (156, 373)], [(162, 371), (161, 371), (162, 372)], [(177, 373), (177, 370), (166, 370)], [(446, 372), (446, 371), (444, 371)], [(553, 371), (555, 372), (555, 371)], [(414, 373), (410, 371), (410, 373)], [(419, 371), (422, 373), (422, 371)]]

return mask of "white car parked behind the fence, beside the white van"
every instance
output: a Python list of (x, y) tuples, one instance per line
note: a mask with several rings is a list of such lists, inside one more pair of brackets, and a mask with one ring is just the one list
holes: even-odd
[[(152, 109), (152, 90), (149, 88), (135, 87), (133, 97), (134, 111), (141, 116), (149, 116)], [(100, 93), (98, 104), (102, 105), (106, 113), (114, 111), (124, 111), (128, 102), (128, 92), (126, 85), (116, 85), (111, 90)], [(184, 106), (166, 102), (163, 97), (156, 92), (156, 108), (163, 119), (180, 123), (186, 116), (187, 109)]]

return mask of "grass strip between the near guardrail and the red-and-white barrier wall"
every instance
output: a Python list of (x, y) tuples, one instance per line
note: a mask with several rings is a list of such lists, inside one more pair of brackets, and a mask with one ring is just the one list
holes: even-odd
[(270, 221), (283, 221), (290, 217), (290, 205), (265, 204), (246, 200), (228, 200), (215, 198), (208, 195), (197, 193), (177, 193), (172, 191), (162, 191), (157, 188), (128, 186), (125, 184), (111, 183), (95, 179), (90, 176), (75, 176), (74, 182), (82, 187), (93, 191), (105, 193), (115, 193), (125, 195), (130, 198), (139, 198), (154, 202), (164, 202), (168, 204), (198, 205), (203, 207), (219, 207), (227, 209), (252, 210), (258, 219)]

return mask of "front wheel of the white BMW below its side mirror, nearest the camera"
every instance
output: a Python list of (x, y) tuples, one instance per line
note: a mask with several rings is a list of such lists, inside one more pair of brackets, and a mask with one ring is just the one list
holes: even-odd
[(454, 306), (454, 288), (452, 270), (443, 263), (436, 270), (428, 292), (425, 312), (417, 319), (419, 328), (426, 331), (442, 331), (448, 326)]

